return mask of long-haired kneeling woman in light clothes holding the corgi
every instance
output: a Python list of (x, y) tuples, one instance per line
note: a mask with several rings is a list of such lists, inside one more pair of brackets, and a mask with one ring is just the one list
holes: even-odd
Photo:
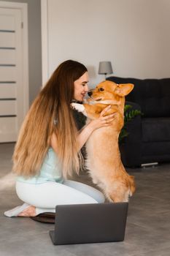
[(59, 65), (31, 105), (20, 129), (13, 154), (18, 175), (16, 192), (23, 206), (6, 211), (7, 217), (35, 217), (55, 212), (55, 206), (102, 203), (97, 189), (66, 178), (79, 173), (80, 148), (95, 129), (109, 126), (113, 115), (90, 121), (80, 132), (72, 116), (71, 103), (82, 102), (88, 91), (88, 70), (77, 61)]

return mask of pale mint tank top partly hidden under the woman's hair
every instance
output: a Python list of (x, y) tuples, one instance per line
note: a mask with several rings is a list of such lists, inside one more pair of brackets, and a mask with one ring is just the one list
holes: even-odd
[(61, 166), (53, 148), (49, 148), (40, 172), (31, 178), (18, 176), (17, 181), (28, 184), (42, 184), (48, 181), (63, 182)]

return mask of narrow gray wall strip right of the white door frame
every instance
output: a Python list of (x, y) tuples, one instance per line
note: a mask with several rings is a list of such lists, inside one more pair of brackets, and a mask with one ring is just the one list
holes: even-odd
[(29, 102), (42, 86), (41, 0), (3, 0), (28, 4)]

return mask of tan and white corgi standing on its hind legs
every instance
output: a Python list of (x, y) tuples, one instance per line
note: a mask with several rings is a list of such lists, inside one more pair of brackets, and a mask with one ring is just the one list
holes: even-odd
[(128, 202), (135, 191), (134, 176), (128, 175), (120, 159), (118, 137), (123, 127), (125, 95), (134, 89), (131, 83), (117, 84), (109, 80), (99, 83), (96, 89), (88, 91), (87, 102), (72, 103), (72, 108), (91, 119), (98, 118), (108, 105), (104, 114), (115, 113), (111, 125), (93, 131), (86, 142), (86, 166), (96, 184), (110, 202)]

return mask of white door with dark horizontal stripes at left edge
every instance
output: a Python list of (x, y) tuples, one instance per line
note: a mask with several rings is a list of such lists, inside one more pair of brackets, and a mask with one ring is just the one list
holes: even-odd
[(26, 112), (22, 26), (22, 10), (0, 7), (0, 143), (16, 141)]

